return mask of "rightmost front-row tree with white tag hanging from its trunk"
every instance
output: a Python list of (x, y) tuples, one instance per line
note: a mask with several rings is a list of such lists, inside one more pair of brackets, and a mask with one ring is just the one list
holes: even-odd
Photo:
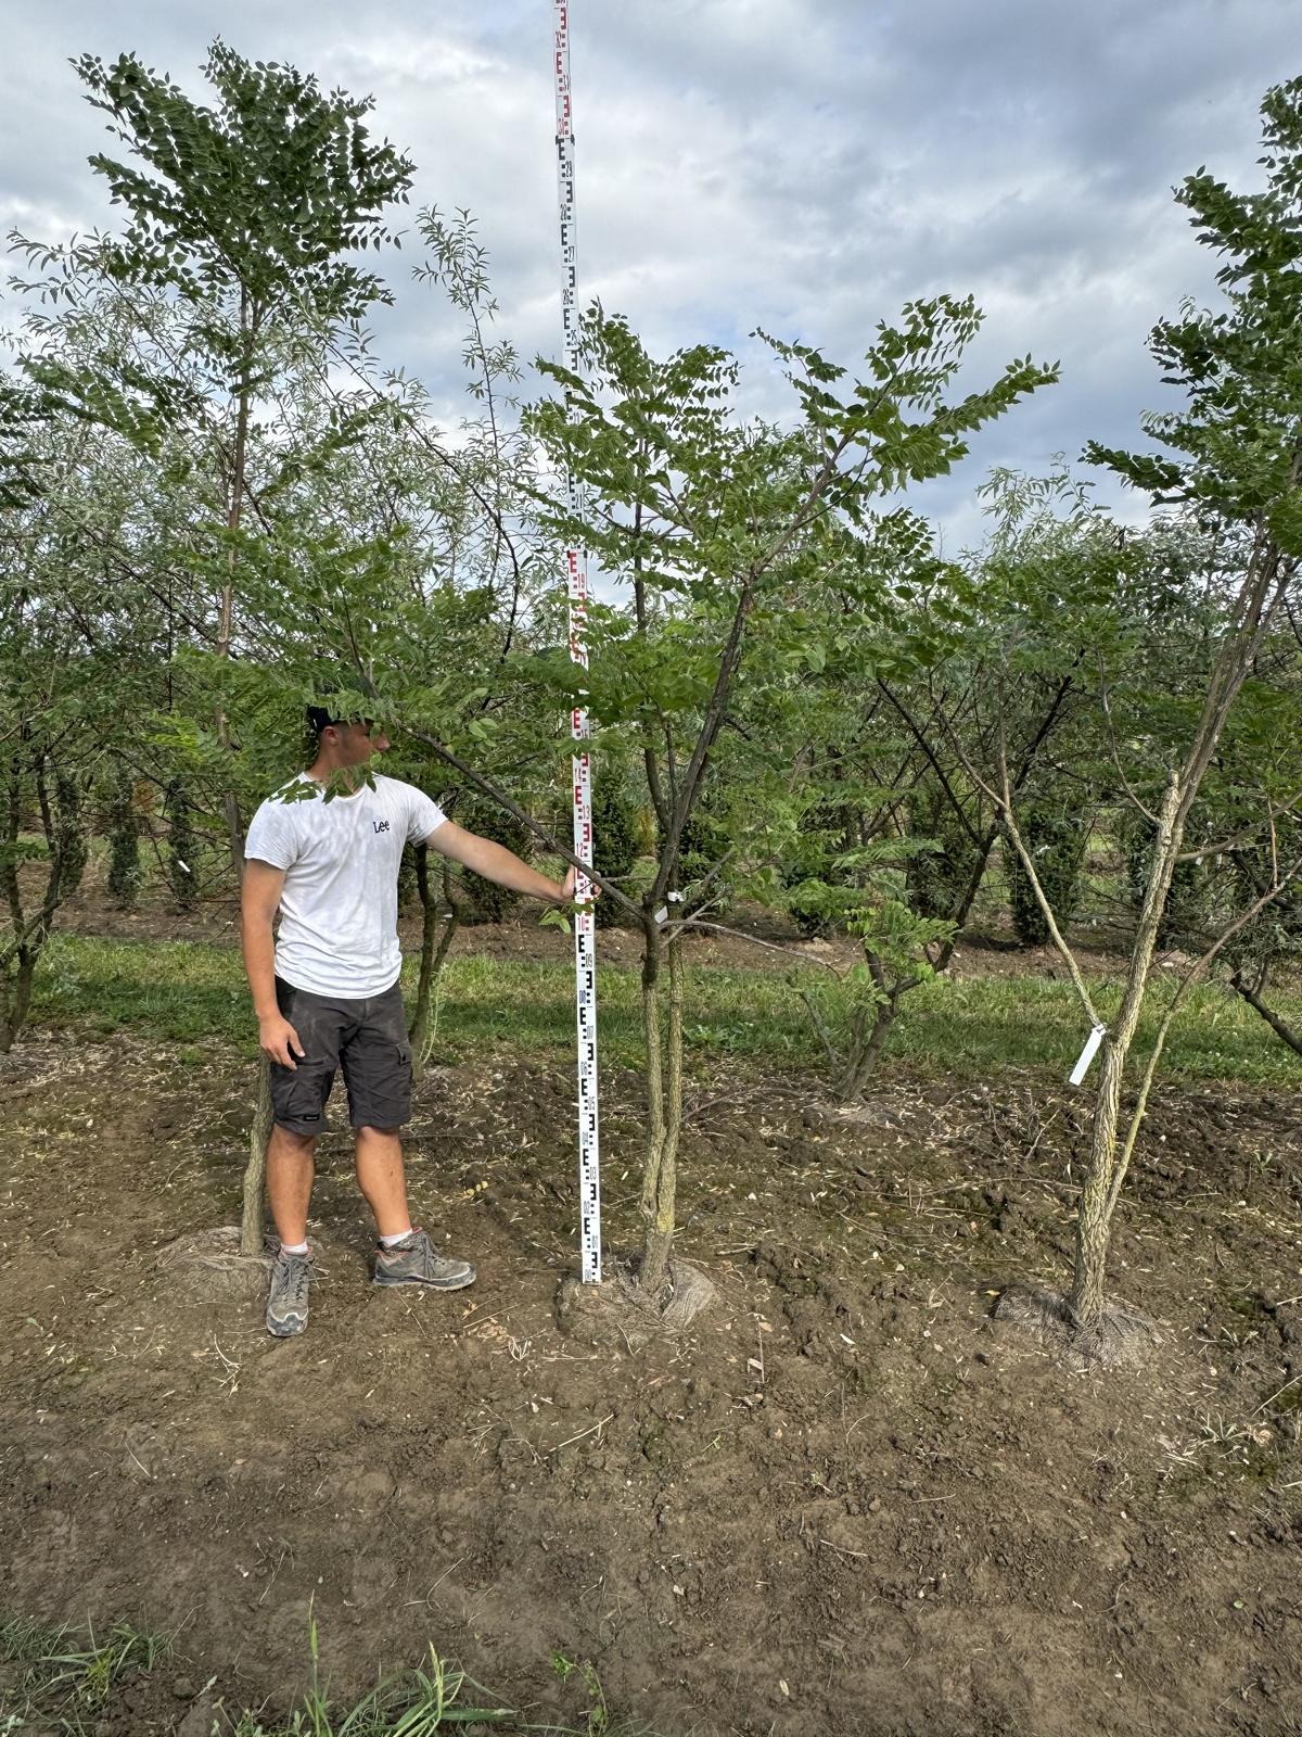
[[(1226, 306), (1215, 313), (1186, 306), (1179, 320), (1160, 321), (1149, 349), (1163, 377), (1182, 387), (1184, 405), (1144, 419), (1146, 433), (1168, 455), (1127, 453), (1092, 445), (1087, 457), (1109, 466), (1158, 504), (1180, 504), (1198, 521), (1227, 533), (1236, 566), (1212, 575), (1207, 599), (1213, 625), (1207, 679), (1179, 750), (1161, 768), (1160, 802), (1142, 801), (1158, 769), (1144, 749), (1165, 749), (1161, 735), (1141, 736), (1134, 723), (1116, 730), (1118, 771), (1154, 829), (1151, 865), (1130, 950), (1121, 1004), (1102, 1021), (1052, 905), (1038, 882), (1035, 858), (1017, 827), (1007, 764), (988, 794), (998, 802), (1028, 881), (1036, 891), (1052, 938), (1071, 971), (1087, 1018), (1106, 1025), (1094, 1093), (1090, 1164), (1076, 1218), (1071, 1291), (1061, 1317), (1087, 1355), (1125, 1344), (1135, 1320), (1109, 1304), (1106, 1291), (1113, 1214), (1125, 1181), (1147, 1093), (1165, 1035), (1191, 983), (1222, 947), (1297, 875), (1299, 863), (1278, 862), (1271, 886), (1184, 974), (1167, 1004), (1158, 1039), (1139, 1086), (1134, 1113), (1120, 1133), (1127, 1060), (1144, 1004), (1172, 877), (1182, 860), (1194, 804), (1236, 700), (1271, 629), (1293, 596), (1302, 558), (1302, 80), (1274, 87), (1262, 104), (1267, 188), (1236, 195), (1208, 174), (1191, 175), (1177, 200), (1191, 212), (1203, 245), (1222, 259), (1217, 278)], [(1116, 723), (1113, 719), (1113, 723)], [(1139, 742), (1139, 766), (1128, 743)], [(1132, 761), (1127, 769), (1125, 759)], [(1264, 816), (1269, 827), (1271, 816)], [(1200, 848), (1194, 855), (1212, 855)]]

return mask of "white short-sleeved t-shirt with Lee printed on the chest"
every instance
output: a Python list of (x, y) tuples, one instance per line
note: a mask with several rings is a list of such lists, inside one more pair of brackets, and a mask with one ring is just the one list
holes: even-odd
[[(306, 775), (295, 782), (311, 783)], [(448, 816), (411, 783), (377, 775), (326, 802), (269, 797), (248, 825), (245, 856), (285, 870), (276, 976), (312, 995), (366, 1001), (398, 981), (398, 865)]]

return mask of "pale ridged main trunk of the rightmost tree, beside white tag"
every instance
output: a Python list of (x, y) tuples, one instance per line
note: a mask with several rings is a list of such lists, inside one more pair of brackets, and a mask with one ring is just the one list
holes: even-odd
[(1068, 1296), (1068, 1313), (1082, 1332), (1095, 1332), (1102, 1322), (1108, 1284), (1108, 1245), (1111, 1242), (1116, 1199), (1113, 1179), (1116, 1172), (1116, 1129), (1121, 1112), (1121, 1080), (1127, 1056), (1135, 1039), (1139, 1013), (1144, 1006), (1149, 968), (1158, 945), (1161, 914), (1167, 907), (1175, 856), (1184, 835), (1180, 816), (1182, 787), (1177, 773), (1167, 782), (1167, 794), (1158, 816), (1158, 834), (1153, 841), (1153, 868), (1149, 872), (1139, 929), (1130, 954), (1125, 995), (1116, 1023), (1102, 1040), (1102, 1065), (1094, 1094), (1094, 1127), (1090, 1138), (1090, 1169), (1076, 1214), (1076, 1265)]

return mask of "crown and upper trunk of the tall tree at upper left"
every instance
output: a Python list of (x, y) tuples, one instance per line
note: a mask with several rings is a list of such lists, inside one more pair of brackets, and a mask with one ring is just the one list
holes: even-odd
[[(380, 278), (351, 255), (389, 238), (385, 208), (406, 198), (411, 163), (365, 127), (370, 97), (325, 94), (290, 66), (241, 59), (214, 42), (205, 76), (212, 106), (194, 102), (134, 54), (106, 66), (82, 56), (89, 101), (144, 167), (104, 153), (90, 158), (113, 203), (128, 212), (122, 236), (68, 247), (16, 236), (28, 259), (52, 271), (38, 288), (76, 306), (101, 287), (125, 309), (128, 344), (92, 372), (57, 353), (30, 354), (30, 377), (64, 408), (158, 453), (182, 433), (187, 462), (212, 467), (207, 525), (220, 554), (215, 571), (215, 648), (229, 657), (236, 622), (236, 563), (247, 512), (266, 533), (278, 488), (351, 443), (372, 406), (335, 419), (306, 455), (255, 434), (259, 405), (316, 335), (354, 325), (391, 301)], [(31, 287), (30, 287), (31, 288)], [(318, 340), (319, 342), (319, 340)], [(253, 464), (257, 448), (260, 464)], [(215, 717), (229, 750), (229, 724)], [(227, 844), (238, 877), (243, 825), (233, 785), (224, 792)]]

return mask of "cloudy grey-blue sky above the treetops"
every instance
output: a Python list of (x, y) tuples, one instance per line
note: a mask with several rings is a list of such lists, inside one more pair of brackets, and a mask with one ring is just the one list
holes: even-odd
[[(413, 203), (470, 207), (500, 327), (556, 354), (550, 0), (45, 0), (10, 7), (0, 71), (0, 221), (61, 238), (108, 221), (87, 155), (102, 116), (68, 57), (134, 49), (201, 94), (220, 35), (372, 92), (418, 165)], [(1014, 354), (1062, 363), (924, 502), (953, 549), (990, 464), (1040, 469), (1085, 439), (1137, 439), (1163, 401), (1144, 337), (1212, 297), (1172, 186), (1207, 165), (1257, 184), (1259, 102), (1302, 73), (1299, 0), (571, 0), (580, 290), (656, 349), (712, 339), (781, 382), (753, 327), (852, 365), (910, 297), (972, 292), (967, 380)], [(460, 415), (458, 327), (385, 269), (382, 354)], [(1101, 499), (1116, 500), (1108, 479)], [(1137, 511), (1137, 504), (1128, 512)]]

